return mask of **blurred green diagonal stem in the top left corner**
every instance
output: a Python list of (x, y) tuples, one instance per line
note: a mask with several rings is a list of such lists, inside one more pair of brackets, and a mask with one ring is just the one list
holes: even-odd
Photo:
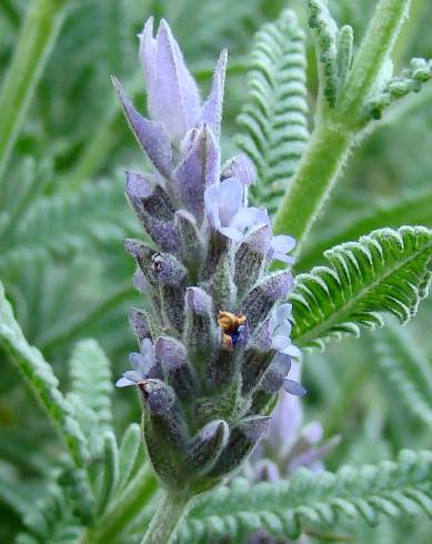
[(66, 13), (66, 0), (33, 0), (0, 94), (0, 180)]

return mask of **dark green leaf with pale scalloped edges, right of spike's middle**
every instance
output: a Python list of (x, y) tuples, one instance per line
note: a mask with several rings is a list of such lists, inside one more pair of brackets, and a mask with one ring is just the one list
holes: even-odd
[(359, 242), (324, 253), (330, 266), (295, 278), (292, 338), (303, 347), (323, 347), (330, 338), (382, 326), (381, 313), (401, 323), (416, 313), (431, 280), (432, 231), (423, 226), (381, 229)]

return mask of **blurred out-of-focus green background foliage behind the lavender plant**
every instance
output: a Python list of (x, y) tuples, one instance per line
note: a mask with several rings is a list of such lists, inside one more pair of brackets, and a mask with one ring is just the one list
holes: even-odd
[[(0, 0), (0, 85), (30, 3)], [(134, 346), (127, 311), (132, 303), (142, 303), (132, 288), (133, 263), (122, 246), (125, 236), (140, 235), (124, 200), (123, 170), (145, 170), (148, 163), (122, 118), (109, 75), (121, 79), (144, 111), (135, 34), (150, 14), (168, 19), (203, 94), (218, 53), (227, 47), (230, 64), (222, 142), (227, 158), (239, 131), (235, 118), (244, 99), (254, 32), (285, 7), (298, 12), (307, 30), (303, 3), (70, 2), (0, 188), (0, 278), (29, 341), (42, 350), (62, 384), (68, 383), (71, 350), (82, 338), (100, 342), (114, 376), (125, 367), (127, 354)], [(353, 26), (356, 43), (374, 4), (372, 0), (330, 1), (338, 22)], [(431, 26), (430, 3), (414, 1), (393, 59), (396, 68), (411, 57), (432, 57)], [(308, 59), (313, 111), (317, 73), (309, 33)], [(355, 149), (298, 270), (319, 263), (325, 248), (372, 228), (432, 225), (431, 103), (429, 87), (393, 108)], [(416, 205), (420, 197), (423, 204)], [(429, 300), (403, 336), (406, 350), (421, 350), (419, 357), (429, 366), (431, 328)], [(402, 447), (432, 445), (431, 426), (406, 411), (403, 395), (380, 364), (374, 350), (379, 336), (364, 334), (360, 341), (345, 340), (324, 354), (305, 357), (304, 382), (310, 391), (303, 402), (305, 420), (319, 420), (328, 436), (342, 437), (326, 460), (332, 470), (346, 462), (389, 459)], [(60, 446), (1, 351), (0, 369), (0, 543), (10, 543), (22, 531), (13, 492), (38, 497)], [(114, 417), (119, 432), (139, 420), (133, 395), (115, 393)], [(412, 544), (432, 541), (432, 530), (422, 518), (415, 527), (401, 521), (400, 526), (383, 524), (375, 533), (358, 526), (349, 532), (359, 543), (402, 543), (408, 533)]]

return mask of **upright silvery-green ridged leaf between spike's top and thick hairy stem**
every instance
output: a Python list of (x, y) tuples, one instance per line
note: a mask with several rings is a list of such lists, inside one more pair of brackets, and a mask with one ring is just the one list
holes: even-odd
[(309, 140), (304, 34), (293, 11), (258, 32), (238, 147), (254, 162), (254, 202), (273, 212)]

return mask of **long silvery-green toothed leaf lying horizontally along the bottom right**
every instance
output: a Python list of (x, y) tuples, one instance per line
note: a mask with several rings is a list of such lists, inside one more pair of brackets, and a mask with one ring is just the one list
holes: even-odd
[(341, 518), (372, 526), (383, 516), (431, 514), (432, 457), (429, 451), (403, 451), (396, 462), (344, 466), (336, 473), (300, 470), (289, 482), (251, 485), (238, 478), (192, 510), (180, 531), (181, 543), (245, 535), (264, 527), (279, 537), (298, 538), (304, 526), (323, 534)]

